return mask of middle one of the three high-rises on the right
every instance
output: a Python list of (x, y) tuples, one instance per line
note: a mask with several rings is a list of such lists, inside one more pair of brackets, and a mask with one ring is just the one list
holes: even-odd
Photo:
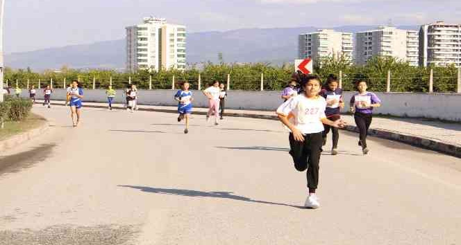
[(417, 44), (418, 35), (415, 31), (392, 26), (356, 33), (355, 64), (366, 64), (374, 56), (389, 56), (417, 66)]

